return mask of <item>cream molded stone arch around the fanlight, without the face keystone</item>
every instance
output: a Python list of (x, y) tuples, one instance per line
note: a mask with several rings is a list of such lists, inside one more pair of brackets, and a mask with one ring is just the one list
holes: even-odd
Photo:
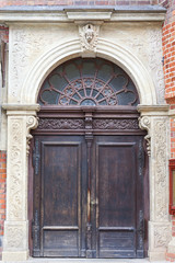
[[(43, 81), (55, 67), (71, 58), (88, 55), (89, 54), (81, 52), (79, 39), (67, 42), (45, 53), (35, 62), (24, 80), (21, 92), (21, 103), (36, 103)], [(135, 82), (141, 104), (156, 104), (156, 93), (152, 78), (142, 62), (129, 50), (118, 44), (100, 38), (96, 53), (92, 54), (92, 56), (108, 59), (120, 66)]]

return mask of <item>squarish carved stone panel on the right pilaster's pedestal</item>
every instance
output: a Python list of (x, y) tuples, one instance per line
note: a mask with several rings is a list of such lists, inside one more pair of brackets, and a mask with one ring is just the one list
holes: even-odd
[(166, 248), (171, 241), (168, 226), (156, 226), (154, 229), (154, 248)]

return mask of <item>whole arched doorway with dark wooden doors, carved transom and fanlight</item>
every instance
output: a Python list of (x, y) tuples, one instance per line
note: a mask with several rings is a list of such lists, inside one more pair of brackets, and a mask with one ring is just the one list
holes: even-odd
[(72, 59), (38, 103), (33, 255), (143, 258), (145, 134), (129, 76), (102, 58)]

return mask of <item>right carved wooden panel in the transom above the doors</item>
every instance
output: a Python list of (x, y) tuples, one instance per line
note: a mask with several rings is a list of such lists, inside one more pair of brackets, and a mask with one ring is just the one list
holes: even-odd
[(139, 129), (138, 119), (94, 119), (94, 129)]

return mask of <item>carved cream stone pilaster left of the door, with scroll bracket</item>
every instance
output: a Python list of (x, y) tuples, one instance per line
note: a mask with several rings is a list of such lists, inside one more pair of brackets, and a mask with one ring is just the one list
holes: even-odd
[(28, 258), (27, 155), (37, 126), (34, 111), (8, 111), (7, 219), (4, 222), (3, 261)]

